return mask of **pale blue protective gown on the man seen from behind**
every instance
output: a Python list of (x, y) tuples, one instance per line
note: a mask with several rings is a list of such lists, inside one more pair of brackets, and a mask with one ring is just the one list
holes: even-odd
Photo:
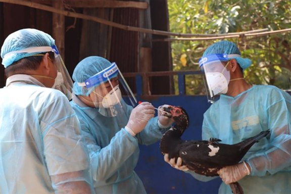
[(92, 185), (80, 125), (62, 92), (11, 76), (0, 89), (0, 123), (0, 193), (66, 193), (52, 179), (76, 171), (82, 174), (63, 183)]

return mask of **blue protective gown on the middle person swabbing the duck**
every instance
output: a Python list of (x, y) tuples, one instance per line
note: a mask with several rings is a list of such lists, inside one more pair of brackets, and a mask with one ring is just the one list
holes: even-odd
[(75, 95), (71, 102), (89, 150), (96, 193), (146, 193), (134, 172), (139, 157), (138, 143), (154, 143), (168, 129), (159, 128), (155, 117), (133, 137), (124, 129), (133, 108), (123, 100), (121, 103), (125, 110), (119, 110), (115, 117), (105, 117), (98, 109), (84, 105)]

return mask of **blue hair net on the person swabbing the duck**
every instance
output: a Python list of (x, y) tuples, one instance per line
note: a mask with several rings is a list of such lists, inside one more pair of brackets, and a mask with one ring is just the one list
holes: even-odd
[(111, 66), (110, 61), (104, 59), (103, 57), (91, 56), (80, 61), (74, 69), (73, 80), (73, 91), (76, 95), (89, 95), (84, 93), (84, 86), (79, 86), (78, 83), (84, 82), (86, 79), (92, 77), (96, 73)]

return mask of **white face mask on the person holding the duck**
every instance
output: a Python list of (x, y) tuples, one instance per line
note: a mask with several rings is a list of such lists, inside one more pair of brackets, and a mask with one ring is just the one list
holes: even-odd
[(228, 82), (222, 73), (206, 73), (205, 76), (209, 90), (212, 91), (212, 96), (227, 92)]

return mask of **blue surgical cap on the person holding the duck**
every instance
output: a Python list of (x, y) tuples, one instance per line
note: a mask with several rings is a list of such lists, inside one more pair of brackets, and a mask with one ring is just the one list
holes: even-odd
[[(205, 52), (203, 53), (202, 57), (207, 57), (208, 55), (212, 54), (236, 54), (240, 55), (240, 51), (238, 47), (230, 41), (222, 40), (219, 42), (216, 42), (212, 45), (210, 45)], [(243, 70), (247, 69), (252, 65), (252, 61), (247, 58), (241, 58), (241, 57), (230, 57), (230, 59), (235, 59), (236, 62), (239, 64)]]

